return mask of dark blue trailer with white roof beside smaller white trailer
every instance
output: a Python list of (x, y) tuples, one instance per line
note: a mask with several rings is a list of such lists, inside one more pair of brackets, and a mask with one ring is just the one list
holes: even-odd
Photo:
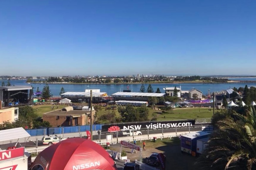
[(209, 137), (210, 133), (196, 132), (181, 136), (181, 152), (197, 156), (197, 140)]

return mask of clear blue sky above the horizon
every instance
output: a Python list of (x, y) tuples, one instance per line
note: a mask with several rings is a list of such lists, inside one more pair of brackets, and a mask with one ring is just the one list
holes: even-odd
[(0, 75), (256, 75), (255, 0), (0, 0)]

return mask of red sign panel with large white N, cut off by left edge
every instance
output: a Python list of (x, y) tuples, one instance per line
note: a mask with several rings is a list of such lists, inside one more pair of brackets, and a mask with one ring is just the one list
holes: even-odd
[(17, 158), (20, 156), (24, 156), (24, 147), (1, 151), (0, 152), (0, 161)]

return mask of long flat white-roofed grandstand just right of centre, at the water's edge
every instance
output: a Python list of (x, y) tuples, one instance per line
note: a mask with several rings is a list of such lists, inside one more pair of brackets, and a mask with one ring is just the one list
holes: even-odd
[(111, 95), (114, 101), (148, 101), (149, 97), (165, 97), (165, 93), (117, 92)]

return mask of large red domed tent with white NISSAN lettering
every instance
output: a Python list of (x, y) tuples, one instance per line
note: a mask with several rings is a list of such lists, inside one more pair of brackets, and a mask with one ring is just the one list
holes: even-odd
[[(32, 164), (32, 170), (117, 170), (108, 152), (99, 144), (69, 138), (43, 150)], [(42, 169), (41, 168), (41, 169)]]

